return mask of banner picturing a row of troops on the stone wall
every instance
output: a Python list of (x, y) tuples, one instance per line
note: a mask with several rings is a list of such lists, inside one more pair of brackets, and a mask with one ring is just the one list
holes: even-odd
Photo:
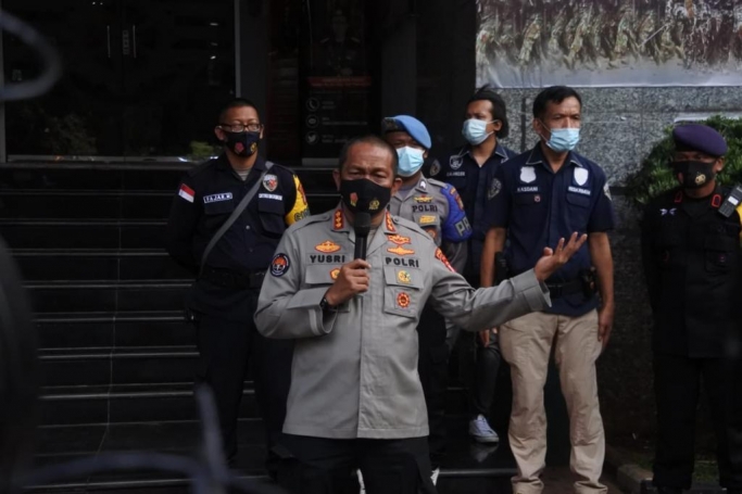
[(742, 0), (477, 0), (477, 83), (742, 85)]

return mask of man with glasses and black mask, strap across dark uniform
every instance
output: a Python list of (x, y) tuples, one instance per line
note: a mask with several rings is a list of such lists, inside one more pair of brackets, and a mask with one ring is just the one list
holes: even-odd
[[(253, 315), (281, 235), (307, 216), (309, 208), (299, 178), (257, 154), (264, 128), (253, 103), (230, 101), (214, 132), (224, 153), (183, 177), (166, 243), (169, 254), (197, 278), (186, 295), (197, 328), (196, 379), (214, 392), (225, 454), (235, 466), (249, 356), (268, 449), (284, 425), (292, 345), (259, 334)], [(268, 457), (272, 474), (273, 466)]]

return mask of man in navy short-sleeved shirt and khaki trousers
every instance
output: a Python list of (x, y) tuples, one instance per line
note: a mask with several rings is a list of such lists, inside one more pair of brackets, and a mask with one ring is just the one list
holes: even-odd
[(570, 417), (570, 466), (580, 477), (576, 490), (607, 492), (600, 483), (605, 435), (595, 360), (613, 325), (613, 258), (606, 232), (614, 227), (614, 214), (605, 174), (573, 151), (579, 140), (581, 106), (580, 96), (571, 88), (541, 91), (533, 101), (532, 124), (539, 143), (500, 166), (487, 182), (483, 287), (493, 284), (494, 254), (505, 249), (505, 238), (510, 240), (505, 250), (510, 275), (514, 276), (532, 267), (543, 246), (554, 245), (565, 232), (589, 236), (588, 244), (546, 280), (554, 296), (552, 307), (500, 329), (502, 353), (512, 369), (508, 435), (518, 464), (513, 492), (519, 494), (543, 490), (539, 479), (546, 455), (543, 387), (554, 341)]

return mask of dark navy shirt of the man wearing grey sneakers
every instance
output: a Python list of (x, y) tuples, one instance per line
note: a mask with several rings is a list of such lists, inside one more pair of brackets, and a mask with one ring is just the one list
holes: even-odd
[(466, 217), (473, 228), (471, 240), (469, 242), (469, 254), (467, 257), (464, 276), (469, 281), (479, 278), (479, 265), (481, 251), (487, 233), (487, 221), (485, 221), (485, 211), (487, 207), (487, 180), (488, 173), (494, 173), (501, 163), (516, 156), (514, 151), (498, 142), (492, 155), (481, 165), (471, 155), (471, 147), (464, 145), (457, 148), (450, 155), (440, 162), (435, 162), (430, 166), (429, 176), (451, 183), (456, 188), (464, 203)]

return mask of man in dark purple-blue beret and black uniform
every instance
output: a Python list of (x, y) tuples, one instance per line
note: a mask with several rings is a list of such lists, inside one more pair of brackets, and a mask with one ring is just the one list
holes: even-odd
[(654, 485), (690, 489), (699, 390), (704, 389), (717, 438), (720, 484), (742, 492), (739, 373), (742, 194), (717, 183), (727, 143), (705, 125), (672, 131), (670, 166), (680, 186), (647, 204), (642, 259), (654, 314), (653, 365), (657, 401)]

